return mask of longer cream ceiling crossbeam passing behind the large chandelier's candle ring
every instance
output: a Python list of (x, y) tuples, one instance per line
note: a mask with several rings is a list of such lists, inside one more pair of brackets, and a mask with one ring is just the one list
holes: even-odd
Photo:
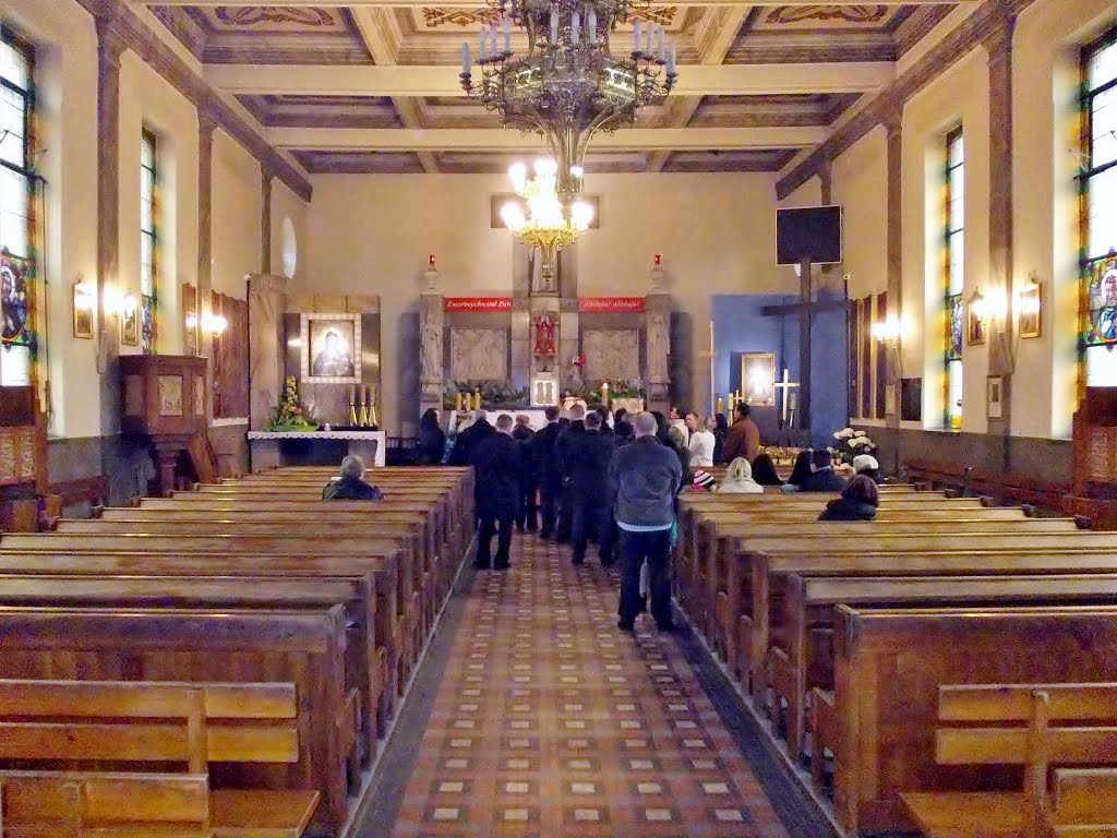
[[(679, 66), (680, 96), (866, 93), (896, 77), (890, 61)], [(461, 96), (452, 65), (374, 67), (207, 65), (206, 80), (230, 94), (300, 96)]]

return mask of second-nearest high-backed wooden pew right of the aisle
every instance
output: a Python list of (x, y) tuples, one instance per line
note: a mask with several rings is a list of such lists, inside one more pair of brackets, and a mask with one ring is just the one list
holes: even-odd
[[(1117, 559), (1117, 555), (1114, 556)], [(981, 604), (1115, 604), (1117, 603), (1117, 561), (1111, 572), (1051, 575), (1001, 575), (1011, 572), (1012, 560), (1004, 568), (987, 566), (990, 575), (916, 577), (811, 577), (802, 573), (776, 574), (772, 581), (768, 606), (770, 646), (767, 677), (772, 706), (780, 698), (787, 703), (787, 749), (798, 756), (804, 745), (805, 698), (815, 687), (833, 688), (833, 607), (935, 608)], [(763, 703), (763, 699), (762, 699)], [(821, 745), (821, 746), (819, 746)], [(834, 743), (812, 743), (812, 773), (821, 782), (824, 747)]]

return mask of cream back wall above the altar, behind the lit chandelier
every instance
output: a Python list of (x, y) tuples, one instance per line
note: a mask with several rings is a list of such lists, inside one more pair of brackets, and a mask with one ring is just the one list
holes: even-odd
[[(642, 296), (655, 254), (663, 257), (675, 308), (690, 315), (691, 358), (708, 346), (715, 294), (794, 293), (794, 274), (775, 266), (771, 174), (594, 175), (601, 221), (577, 245), (581, 296)], [(512, 293), (513, 244), (489, 227), (500, 175), (330, 175), (314, 180), (309, 213), (313, 278), (302, 291), (381, 296), (384, 423), (398, 431), (394, 360), (401, 316), (417, 310), (427, 255), (436, 254), (447, 296)], [(414, 360), (418, 363), (418, 359)], [(709, 389), (695, 361), (691, 392)]]

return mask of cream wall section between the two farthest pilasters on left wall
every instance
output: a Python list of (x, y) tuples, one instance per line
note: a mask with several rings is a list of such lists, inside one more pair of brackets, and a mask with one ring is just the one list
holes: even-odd
[(260, 164), (223, 131), (213, 132), (213, 291), (248, 297), (260, 273)]

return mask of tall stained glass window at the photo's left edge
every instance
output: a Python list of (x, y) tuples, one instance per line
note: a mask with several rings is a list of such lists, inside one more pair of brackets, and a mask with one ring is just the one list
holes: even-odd
[(34, 383), (31, 49), (0, 29), (0, 384)]

